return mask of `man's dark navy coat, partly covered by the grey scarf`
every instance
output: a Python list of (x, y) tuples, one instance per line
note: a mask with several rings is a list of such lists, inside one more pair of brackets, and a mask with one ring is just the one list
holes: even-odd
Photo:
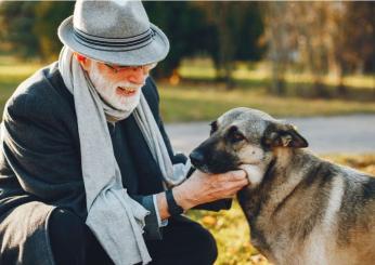
[[(158, 112), (158, 93), (151, 78), (142, 90), (172, 162), (184, 161), (185, 157), (173, 156)], [(51, 211), (60, 207), (82, 220), (87, 216), (74, 98), (65, 88), (56, 63), (17, 88), (7, 103), (3, 123), (0, 264), (52, 264), (48, 259), (51, 250), (46, 228)], [(108, 127), (124, 186), (151, 211), (145, 236), (160, 238), (152, 195), (164, 190), (161, 172), (133, 116)], [(27, 248), (33, 243), (36, 249)]]

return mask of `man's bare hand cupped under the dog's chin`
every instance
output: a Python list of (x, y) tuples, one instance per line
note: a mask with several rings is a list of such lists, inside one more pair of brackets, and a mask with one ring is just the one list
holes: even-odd
[(184, 210), (219, 199), (231, 198), (248, 184), (244, 170), (222, 174), (194, 171), (191, 177), (173, 188), (176, 202)]

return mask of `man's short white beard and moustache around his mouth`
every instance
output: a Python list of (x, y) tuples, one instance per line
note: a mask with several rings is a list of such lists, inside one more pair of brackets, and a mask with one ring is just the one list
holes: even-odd
[[(112, 81), (103, 77), (100, 72), (96, 63), (92, 63), (88, 71), (90, 80), (98, 91), (99, 95), (102, 97), (107, 105), (111, 107), (120, 110), (132, 112), (134, 108), (140, 103), (141, 98), (141, 89), (144, 85), (133, 84), (128, 81)], [(131, 96), (118, 95), (116, 90), (118, 87), (129, 88), (135, 90), (135, 94)]]

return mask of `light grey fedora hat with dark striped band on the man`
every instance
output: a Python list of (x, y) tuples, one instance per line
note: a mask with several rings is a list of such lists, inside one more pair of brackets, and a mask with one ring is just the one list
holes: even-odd
[(78, 0), (57, 34), (73, 51), (115, 65), (156, 63), (169, 51), (168, 38), (150, 23), (141, 1)]

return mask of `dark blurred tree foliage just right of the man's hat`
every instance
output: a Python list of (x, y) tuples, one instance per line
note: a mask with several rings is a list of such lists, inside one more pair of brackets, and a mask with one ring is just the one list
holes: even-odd
[(235, 61), (260, 59), (263, 32), (258, 3), (248, 2), (144, 2), (150, 19), (169, 37), (170, 53), (159, 76), (168, 76), (183, 57), (207, 54), (212, 58), (218, 80), (232, 87)]

